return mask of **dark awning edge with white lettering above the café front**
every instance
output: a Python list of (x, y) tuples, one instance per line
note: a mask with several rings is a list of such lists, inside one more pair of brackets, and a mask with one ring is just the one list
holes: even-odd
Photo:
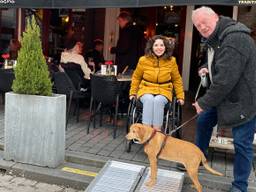
[(0, 8), (107, 8), (164, 5), (256, 5), (256, 0), (0, 0)]

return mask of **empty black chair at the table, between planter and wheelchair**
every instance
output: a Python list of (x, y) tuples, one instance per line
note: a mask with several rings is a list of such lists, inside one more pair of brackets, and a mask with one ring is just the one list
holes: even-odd
[[(96, 107), (97, 104), (97, 107)], [(92, 111), (93, 106), (93, 111)], [(91, 75), (91, 104), (90, 104), (90, 121), (87, 128), (89, 133), (90, 124), (93, 120), (95, 128), (95, 118), (100, 115), (100, 126), (102, 125), (102, 109), (105, 107), (115, 108), (114, 112), (114, 131), (113, 138), (116, 138), (117, 131), (117, 114), (119, 106), (119, 82), (115, 76)]]

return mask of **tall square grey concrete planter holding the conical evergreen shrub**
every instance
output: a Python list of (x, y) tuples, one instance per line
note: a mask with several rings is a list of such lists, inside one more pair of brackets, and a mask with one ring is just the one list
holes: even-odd
[(7, 93), (4, 158), (57, 167), (64, 162), (66, 96)]

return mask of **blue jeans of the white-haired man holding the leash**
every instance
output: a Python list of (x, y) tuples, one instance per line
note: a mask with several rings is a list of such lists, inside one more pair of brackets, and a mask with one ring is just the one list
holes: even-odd
[[(213, 127), (217, 124), (217, 110), (211, 108), (199, 114), (197, 119), (196, 145), (207, 156)], [(256, 130), (256, 117), (251, 121), (232, 128), (235, 147), (234, 181), (232, 186), (247, 192), (248, 178), (253, 161), (253, 138)]]

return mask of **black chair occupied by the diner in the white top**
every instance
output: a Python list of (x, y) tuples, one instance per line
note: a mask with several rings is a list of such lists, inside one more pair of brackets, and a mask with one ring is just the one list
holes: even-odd
[(70, 117), (70, 108), (72, 100), (76, 101), (76, 120), (79, 122), (79, 113), (80, 113), (80, 99), (89, 99), (89, 93), (80, 91), (76, 89), (71, 79), (65, 72), (56, 72), (54, 73), (54, 86), (56, 88), (56, 93), (65, 94), (68, 99), (68, 108), (67, 108), (67, 124)]

